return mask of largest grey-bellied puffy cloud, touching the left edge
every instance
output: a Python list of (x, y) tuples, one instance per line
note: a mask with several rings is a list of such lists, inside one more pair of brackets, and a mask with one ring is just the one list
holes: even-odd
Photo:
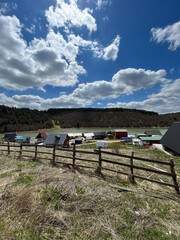
[(0, 86), (12, 90), (74, 86), (85, 69), (76, 62), (78, 47), (50, 30), (46, 39), (23, 39), (16, 16), (0, 16)]

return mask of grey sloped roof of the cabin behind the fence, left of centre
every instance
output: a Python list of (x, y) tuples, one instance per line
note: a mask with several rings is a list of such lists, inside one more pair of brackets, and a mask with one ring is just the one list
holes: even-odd
[(49, 134), (44, 141), (45, 145), (63, 145), (66, 137), (68, 136), (67, 133), (65, 134)]

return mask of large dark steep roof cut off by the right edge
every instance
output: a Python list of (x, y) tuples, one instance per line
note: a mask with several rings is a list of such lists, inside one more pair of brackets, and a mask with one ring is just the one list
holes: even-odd
[(180, 122), (174, 122), (161, 139), (161, 144), (180, 154)]

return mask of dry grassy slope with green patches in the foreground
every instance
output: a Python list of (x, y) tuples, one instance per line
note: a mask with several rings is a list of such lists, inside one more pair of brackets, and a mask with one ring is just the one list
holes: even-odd
[[(169, 159), (159, 151), (120, 146), (123, 154), (132, 150), (136, 156)], [(180, 176), (180, 158), (174, 161)], [(177, 198), (174, 189), (139, 180), (132, 185), (114, 173), (101, 178), (90, 170), (53, 168), (47, 162), (1, 155), (0, 239), (180, 238), (180, 203), (118, 192), (110, 183)]]

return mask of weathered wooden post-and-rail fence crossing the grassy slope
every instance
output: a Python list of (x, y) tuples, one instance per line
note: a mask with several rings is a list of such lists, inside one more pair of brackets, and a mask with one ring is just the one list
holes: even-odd
[[(138, 179), (142, 179), (144, 181), (149, 181), (149, 182), (153, 182), (153, 183), (157, 183), (157, 184), (161, 184), (161, 185), (165, 185), (168, 187), (173, 187), (177, 194), (180, 194), (180, 187), (178, 185), (178, 181), (177, 181), (177, 175), (174, 169), (174, 162), (173, 159), (171, 158), (169, 161), (160, 161), (160, 160), (152, 160), (152, 159), (146, 159), (146, 158), (141, 158), (141, 157), (136, 157), (134, 156), (134, 152), (132, 152), (131, 156), (129, 155), (123, 155), (123, 154), (118, 154), (118, 153), (113, 153), (113, 152), (108, 152), (108, 151), (104, 151), (101, 148), (99, 149), (95, 149), (94, 151), (85, 151), (85, 150), (78, 150), (76, 149), (76, 146), (73, 145), (73, 148), (59, 148), (56, 146), (51, 146), (51, 147), (46, 147), (44, 145), (33, 145), (33, 144), (10, 144), (9, 142), (7, 144), (0, 144), (0, 151), (4, 151), (7, 152), (8, 155), (10, 153), (17, 153), (18, 157), (28, 157), (31, 158), (33, 161), (36, 160), (49, 160), (50, 163), (52, 164), (52, 166), (55, 166), (56, 164), (64, 164), (67, 166), (72, 166), (73, 168), (77, 168), (77, 167), (82, 167), (82, 168), (91, 168), (96, 170), (97, 173), (102, 174), (103, 170), (106, 171), (111, 171), (111, 172), (115, 172), (118, 174), (123, 174), (123, 175), (127, 175), (130, 179), (131, 182), (135, 183), (135, 178)], [(17, 149), (17, 150), (13, 150), (13, 149)], [(28, 150), (28, 148), (30, 148), (31, 150)], [(33, 148), (33, 150), (32, 150)], [(49, 151), (40, 151), (39, 149), (48, 149), (51, 150), (52, 152)], [(58, 151), (61, 152), (61, 154), (58, 154)], [(67, 155), (62, 155), (63, 152), (68, 152), (71, 155), (67, 156)], [(25, 154), (24, 154), (25, 153)], [(31, 155), (26, 155), (27, 153), (31, 154)], [(33, 154), (33, 155), (32, 155)], [(39, 154), (41, 154), (41, 156), (39, 156)], [(42, 157), (42, 154), (48, 155), (49, 157)], [(77, 154), (87, 154), (87, 155), (93, 155), (95, 156), (95, 160), (94, 159), (85, 159), (85, 158), (80, 158), (77, 157)], [(118, 160), (114, 161), (111, 159), (106, 159), (104, 156), (114, 156), (117, 157)], [(119, 161), (120, 158), (123, 158), (128, 160), (127, 162), (122, 162)], [(71, 162), (64, 162), (61, 161), (61, 159), (70, 159)], [(82, 162), (86, 162), (86, 163), (93, 163), (93, 166), (89, 166), (89, 165), (82, 165), (82, 164), (78, 164), (77, 161), (82, 161)], [(137, 163), (141, 163), (141, 165), (136, 165)], [(169, 168), (169, 172), (163, 169), (159, 169), (157, 167), (154, 166), (149, 166), (149, 167), (144, 167), (142, 166), (145, 163), (151, 163), (151, 164), (158, 164), (161, 166), (166, 166)], [(104, 166), (105, 165), (105, 166)], [(126, 167), (128, 168), (127, 171), (125, 171), (124, 169), (119, 170), (119, 169), (114, 169), (114, 168), (110, 168), (109, 166), (107, 167), (107, 165), (115, 165), (115, 166), (121, 166), (121, 167)], [(145, 172), (151, 172), (151, 173), (155, 173), (158, 175), (163, 175), (166, 176), (168, 178), (171, 178), (171, 183), (169, 182), (164, 182), (164, 181), (159, 181), (156, 179), (151, 179), (149, 177), (146, 176), (142, 176), (142, 174), (137, 175), (135, 173), (135, 170), (140, 170), (141, 171), (145, 171)]]

